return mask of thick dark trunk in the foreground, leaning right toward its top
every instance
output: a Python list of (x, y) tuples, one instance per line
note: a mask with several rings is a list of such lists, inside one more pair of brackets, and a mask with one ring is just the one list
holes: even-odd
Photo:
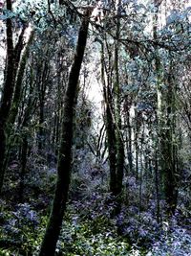
[(86, 47), (90, 14), (90, 9), (88, 9), (87, 12), (84, 14), (83, 21), (79, 29), (76, 53), (74, 55), (74, 62), (70, 72), (68, 86), (65, 92), (63, 109), (64, 119), (62, 124), (62, 136), (57, 166), (57, 182), (53, 198), (52, 212), (43, 242), (41, 244), (39, 256), (54, 255), (63, 216), (66, 209), (66, 202), (68, 198), (68, 191), (71, 179), (74, 100), (81, 63)]

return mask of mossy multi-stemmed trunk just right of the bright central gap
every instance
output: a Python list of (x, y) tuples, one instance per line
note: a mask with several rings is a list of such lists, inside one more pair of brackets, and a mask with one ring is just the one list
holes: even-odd
[[(105, 122), (106, 122), (106, 133), (107, 133), (107, 144), (109, 152), (109, 163), (110, 163), (110, 191), (114, 196), (119, 196), (122, 191), (122, 180), (123, 180), (123, 164), (124, 164), (124, 148), (121, 133), (121, 117), (120, 117), (120, 87), (119, 87), (119, 74), (118, 74), (118, 48), (119, 48), (119, 29), (120, 29), (120, 5), (121, 1), (117, 1), (117, 30), (116, 30), (116, 42), (115, 42), (115, 53), (114, 53), (114, 94), (111, 91), (110, 85), (110, 66), (107, 73), (107, 85), (105, 82), (105, 63), (104, 63), (104, 45), (101, 41), (101, 80), (103, 84), (103, 96), (105, 101)], [(106, 41), (107, 43), (107, 41)], [(108, 45), (107, 45), (108, 49)], [(110, 65), (110, 52), (109, 54), (109, 65)], [(119, 200), (118, 200), (119, 202)], [(120, 203), (118, 203), (119, 206)], [(119, 209), (119, 207), (117, 207)]]

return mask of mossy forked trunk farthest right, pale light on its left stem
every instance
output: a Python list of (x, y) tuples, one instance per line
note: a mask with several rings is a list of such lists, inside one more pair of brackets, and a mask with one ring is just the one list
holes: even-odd
[[(159, 5), (155, 1), (156, 12), (154, 15), (154, 40), (158, 40)], [(167, 202), (167, 214), (175, 213), (178, 190), (176, 185), (177, 153), (175, 150), (175, 90), (172, 80), (172, 63), (169, 67), (168, 80), (164, 84), (164, 70), (156, 47), (156, 76), (158, 94), (158, 136), (157, 149), (159, 157), (160, 183), (163, 198)]]

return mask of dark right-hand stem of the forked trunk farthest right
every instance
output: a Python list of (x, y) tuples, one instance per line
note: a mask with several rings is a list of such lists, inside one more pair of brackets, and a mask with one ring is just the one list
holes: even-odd
[(166, 94), (166, 129), (162, 133), (162, 158), (164, 160), (164, 192), (168, 204), (167, 212), (169, 215), (175, 214), (177, 206), (178, 189), (177, 189), (177, 145), (176, 145), (176, 109), (175, 109), (175, 94), (176, 85), (172, 79), (172, 62), (167, 81), (167, 94)]

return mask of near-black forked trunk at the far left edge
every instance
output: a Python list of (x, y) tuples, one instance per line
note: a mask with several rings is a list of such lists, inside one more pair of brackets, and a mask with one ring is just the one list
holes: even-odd
[[(12, 11), (11, 0), (7, 0), (7, 10)], [(5, 175), (5, 158), (7, 145), (7, 128), (9, 125), (8, 119), (11, 112), (12, 96), (14, 92), (15, 79), (19, 66), (21, 51), (23, 49), (23, 36), (25, 33), (25, 25), (19, 35), (18, 41), (13, 47), (12, 21), (8, 18), (6, 21), (7, 34), (7, 59), (5, 79), (3, 85), (3, 93), (0, 103), (0, 193), (3, 187)]]

